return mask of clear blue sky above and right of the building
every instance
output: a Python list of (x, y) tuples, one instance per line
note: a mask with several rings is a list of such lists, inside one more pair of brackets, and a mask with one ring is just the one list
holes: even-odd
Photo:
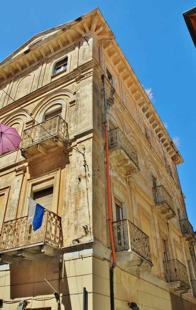
[(152, 87), (154, 106), (171, 138), (180, 138), (185, 162), (178, 172), (194, 230), (196, 49), (182, 13), (195, 6), (193, 0), (2, 0), (0, 10), (2, 61), (35, 33), (99, 7), (140, 83)]

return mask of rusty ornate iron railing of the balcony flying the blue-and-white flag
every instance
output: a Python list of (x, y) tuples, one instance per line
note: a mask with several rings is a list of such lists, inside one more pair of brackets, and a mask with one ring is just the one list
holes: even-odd
[(3, 223), (0, 251), (48, 242), (58, 247), (61, 218), (48, 210), (44, 211), (42, 226), (34, 232), (32, 224), (27, 226), (28, 216)]

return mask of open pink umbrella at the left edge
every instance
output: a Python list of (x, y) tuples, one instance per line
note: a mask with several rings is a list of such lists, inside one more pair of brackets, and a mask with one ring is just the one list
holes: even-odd
[(21, 140), (22, 139), (15, 128), (0, 124), (1, 154), (16, 150)]

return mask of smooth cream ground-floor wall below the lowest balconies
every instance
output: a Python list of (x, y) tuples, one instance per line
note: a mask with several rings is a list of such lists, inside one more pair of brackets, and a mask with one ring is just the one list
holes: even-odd
[[(24, 299), (27, 308), (56, 310), (54, 291), (60, 292), (62, 310), (82, 310), (84, 291), (86, 310), (110, 309), (110, 249), (88, 241), (56, 250), (53, 257), (41, 253), (33, 257), (18, 256), (12, 263), (0, 265), (4, 310), (15, 310)], [(116, 310), (129, 309), (131, 302), (140, 310), (196, 309), (196, 299), (190, 293), (172, 292), (169, 283), (149, 271), (134, 274), (131, 269), (120, 268), (118, 261), (114, 268), (114, 302)]]

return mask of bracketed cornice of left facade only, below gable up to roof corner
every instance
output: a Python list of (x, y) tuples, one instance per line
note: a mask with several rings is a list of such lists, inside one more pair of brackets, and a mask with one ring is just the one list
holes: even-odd
[[(20, 54), (14, 57), (17, 53), (16, 51), (8, 56), (0, 64), (0, 83), (6, 82), (25, 69), (34, 67), (40, 61), (60, 50), (70, 48), (71, 46), (74, 47), (76, 41), (84, 40), (83, 36), (86, 34), (94, 33), (99, 39), (115, 38), (98, 8), (72, 22), (49, 30), (52, 32), (56, 29), (57, 31), (55, 33), (48, 35), (43, 40), (40, 38), (40, 41), (38, 40), (37, 43), (30, 44), (33, 39), (39, 37), (41, 34), (44, 35), (45, 32), (35, 35), (17, 50), (21, 50)], [(24, 50), (25, 46), (27, 46), (26, 50)], [(11, 56), (12, 58), (10, 58)]]

